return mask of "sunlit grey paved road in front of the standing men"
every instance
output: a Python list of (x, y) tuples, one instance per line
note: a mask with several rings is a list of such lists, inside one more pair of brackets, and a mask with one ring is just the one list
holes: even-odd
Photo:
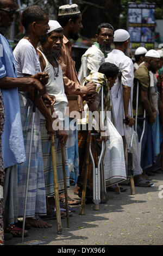
[[(66, 218), (62, 219), (62, 234), (57, 234), (56, 220), (48, 221), (52, 228), (29, 230), (24, 242), (39, 240), (42, 245), (162, 245), (163, 244), (163, 173), (153, 176), (154, 187), (135, 187), (131, 196), (126, 192), (108, 192), (108, 202), (93, 210), (86, 205), (86, 215), (79, 215), (80, 206), (70, 217), (70, 228)], [(124, 187), (124, 186), (123, 186)], [(126, 186), (125, 186), (126, 187)], [(72, 194), (72, 191), (70, 191)], [(77, 196), (74, 196), (77, 198)], [(5, 241), (5, 245), (17, 245), (21, 238)]]

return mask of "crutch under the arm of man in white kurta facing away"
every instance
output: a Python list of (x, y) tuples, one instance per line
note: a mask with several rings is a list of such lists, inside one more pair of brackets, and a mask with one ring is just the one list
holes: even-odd
[[(122, 105), (123, 105), (123, 88), (121, 83), (121, 90), (122, 90)], [(132, 95), (130, 94), (130, 111), (131, 111), (131, 117), (133, 118), (133, 102), (132, 102)], [(124, 114), (124, 105), (123, 105), (123, 125), (124, 125), (124, 137), (126, 138), (126, 118)], [(134, 175), (133, 175), (133, 139), (134, 139), (134, 125), (131, 127), (132, 133), (131, 133), (131, 141), (130, 143), (127, 142), (126, 139), (126, 145), (127, 145), (127, 178), (130, 180), (130, 191), (131, 194), (135, 194), (135, 184), (134, 184)]]

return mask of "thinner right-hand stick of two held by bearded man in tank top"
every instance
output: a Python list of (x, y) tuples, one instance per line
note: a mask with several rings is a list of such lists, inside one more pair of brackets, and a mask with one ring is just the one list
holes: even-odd
[(63, 176), (64, 176), (67, 228), (70, 228), (70, 216), (69, 216), (69, 210), (68, 210), (68, 193), (67, 193), (67, 181), (66, 181), (66, 168), (65, 168), (65, 153), (64, 153), (64, 144), (62, 142), (61, 142), (61, 154), (62, 154), (62, 169), (63, 169)]

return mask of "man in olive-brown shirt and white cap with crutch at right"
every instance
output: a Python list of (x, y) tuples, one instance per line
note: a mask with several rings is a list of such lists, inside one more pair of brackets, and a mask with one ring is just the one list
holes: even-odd
[[(157, 111), (151, 101), (151, 76), (149, 71), (154, 74), (158, 69), (160, 62), (160, 54), (155, 50), (149, 50), (145, 54), (145, 62), (135, 71), (135, 84), (139, 84), (139, 100), (138, 100), (138, 117), (143, 117), (144, 109), (146, 111), (145, 119), (145, 133), (142, 140), (141, 147), (141, 167), (143, 174), (146, 175), (146, 170), (149, 166), (152, 166), (155, 161), (155, 150), (154, 150), (154, 136), (152, 130), (152, 124), (156, 120)], [(134, 86), (133, 93), (133, 113), (136, 113), (136, 86)], [(143, 129), (143, 121), (137, 119), (137, 134), (140, 140)], [(147, 186), (147, 182), (138, 180), (137, 182)]]

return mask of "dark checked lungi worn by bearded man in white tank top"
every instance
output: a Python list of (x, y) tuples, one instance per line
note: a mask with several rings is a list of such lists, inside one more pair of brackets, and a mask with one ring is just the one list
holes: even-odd
[[(45, 176), (45, 190), (46, 196), (54, 195), (54, 182), (53, 182), (53, 166), (52, 166), (52, 152), (51, 142), (48, 140), (48, 134), (46, 130), (46, 120), (40, 119), (40, 130), (41, 130), (41, 142), (42, 142), (42, 157), (43, 157), (43, 169)], [(62, 156), (61, 156), (61, 144), (54, 134), (55, 139), (55, 152), (57, 159), (57, 180), (58, 180), (58, 191), (59, 194), (64, 193), (64, 177), (62, 171)], [(67, 157), (67, 146), (64, 148), (65, 153), (65, 169), (66, 169), (66, 181), (67, 188), (70, 187), (69, 182), (69, 171), (68, 171), (68, 157)]]

